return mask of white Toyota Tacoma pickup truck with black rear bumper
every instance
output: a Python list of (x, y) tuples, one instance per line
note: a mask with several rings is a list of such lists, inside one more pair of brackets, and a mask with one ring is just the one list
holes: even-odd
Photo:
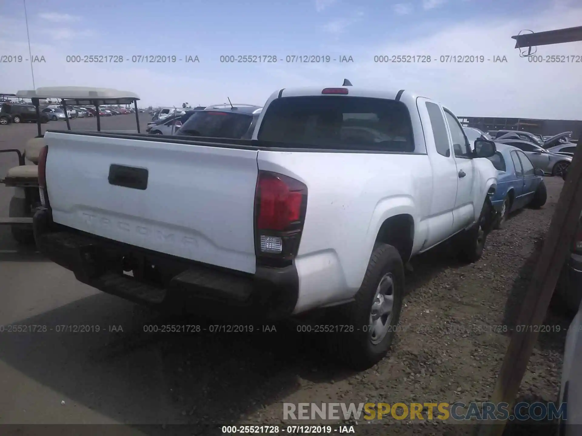
[(404, 263), (449, 238), (474, 262), (495, 219), (494, 142), (472, 148), (455, 115), (408, 91), (282, 89), (251, 140), (44, 138), (48, 258), (102, 291), (227, 320), (335, 306), (326, 329), (356, 367), (391, 345)]

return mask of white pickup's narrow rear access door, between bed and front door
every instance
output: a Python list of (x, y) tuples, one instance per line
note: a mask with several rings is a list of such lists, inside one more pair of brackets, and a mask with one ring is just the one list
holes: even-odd
[(432, 203), (427, 218), (428, 234), (422, 248), (427, 249), (454, 233), (453, 209), (458, 178), (441, 106), (425, 98), (418, 98), (417, 106), (423, 128), (427, 126), (425, 141), (432, 167)]

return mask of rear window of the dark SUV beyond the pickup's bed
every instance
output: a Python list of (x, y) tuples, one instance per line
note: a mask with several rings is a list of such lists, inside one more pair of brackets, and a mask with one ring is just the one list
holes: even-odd
[(240, 139), (249, 130), (253, 116), (246, 113), (203, 110), (194, 113), (178, 130), (178, 135)]

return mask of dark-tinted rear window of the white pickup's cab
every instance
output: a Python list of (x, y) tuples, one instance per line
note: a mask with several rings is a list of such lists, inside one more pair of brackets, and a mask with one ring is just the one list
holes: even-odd
[(406, 105), (379, 98), (279, 98), (267, 108), (257, 138), (314, 148), (414, 152)]

